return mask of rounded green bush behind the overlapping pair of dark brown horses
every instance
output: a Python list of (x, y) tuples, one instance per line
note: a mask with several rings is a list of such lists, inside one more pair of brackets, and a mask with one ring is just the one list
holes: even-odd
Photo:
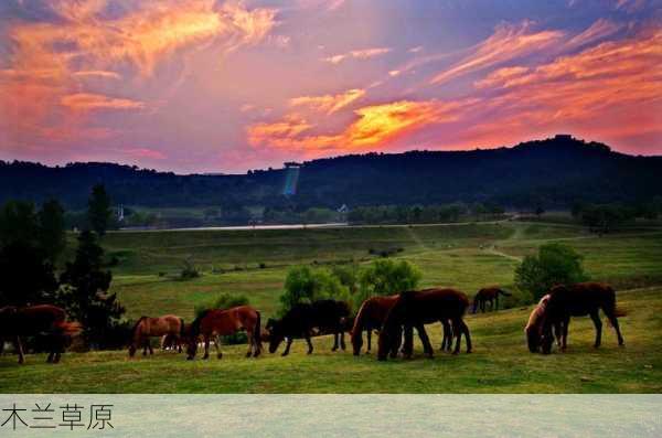
[(416, 289), (419, 281), (420, 271), (406, 260), (374, 260), (359, 275), (360, 299)]

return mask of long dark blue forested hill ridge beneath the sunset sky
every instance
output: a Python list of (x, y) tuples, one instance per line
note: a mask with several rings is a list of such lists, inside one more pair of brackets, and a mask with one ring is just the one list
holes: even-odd
[[(662, 195), (662, 157), (632, 157), (602, 143), (555, 137), (512, 148), (367, 153), (301, 163), (297, 193), (282, 195), (287, 170), (242, 175), (178, 175), (110, 163), (50, 168), (0, 162), (0, 201), (55, 196), (85, 205), (95, 183), (117, 203), (145, 206), (441, 204), (569, 206)], [(291, 175), (290, 175), (291, 177)], [(291, 182), (291, 178), (290, 178)]]

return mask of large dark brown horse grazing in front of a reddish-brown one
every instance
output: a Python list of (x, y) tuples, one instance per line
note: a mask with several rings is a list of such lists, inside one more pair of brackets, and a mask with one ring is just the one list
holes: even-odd
[(460, 351), (460, 340), (465, 334), (467, 341), (467, 353), (471, 352), (471, 335), (469, 328), (463, 321), (463, 316), (469, 307), (467, 296), (455, 289), (426, 289), (402, 292), (384, 320), (380, 332), (377, 359), (386, 360), (393, 345), (399, 342), (397, 339), (401, 328), (405, 328), (404, 355), (410, 357), (413, 352), (412, 328), (415, 328), (420, 336), (425, 353), (431, 357), (433, 346), (425, 331), (425, 324), (437, 321), (450, 320), (452, 333), (457, 339), (453, 354)]

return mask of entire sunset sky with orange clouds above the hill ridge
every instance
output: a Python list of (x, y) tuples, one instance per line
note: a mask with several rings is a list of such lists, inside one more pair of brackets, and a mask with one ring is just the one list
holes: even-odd
[(0, 160), (243, 173), (557, 132), (662, 154), (662, 0), (0, 2)]

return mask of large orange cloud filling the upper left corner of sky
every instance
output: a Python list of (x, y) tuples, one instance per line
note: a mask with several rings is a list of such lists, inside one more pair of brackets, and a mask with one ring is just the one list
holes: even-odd
[[(110, 4), (108, 0), (61, 0), (50, 3), (58, 15), (56, 22), (15, 20), (8, 24), (11, 52), (3, 60), (8, 68), (0, 71), (0, 128), (7, 124), (10, 138), (26, 132), (75, 132), (73, 125), (82, 126), (84, 120), (79, 115), (70, 117), (63, 113), (66, 109), (81, 113), (145, 105), (98, 97), (87, 88), (87, 78), (117, 79), (119, 68), (122, 76), (150, 76), (174, 53), (210, 44), (232, 52), (263, 41), (276, 24), (274, 10), (248, 10), (238, 2), (137, 2), (139, 9), (102, 18)], [(82, 127), (81, 132), (85, 132)]]

